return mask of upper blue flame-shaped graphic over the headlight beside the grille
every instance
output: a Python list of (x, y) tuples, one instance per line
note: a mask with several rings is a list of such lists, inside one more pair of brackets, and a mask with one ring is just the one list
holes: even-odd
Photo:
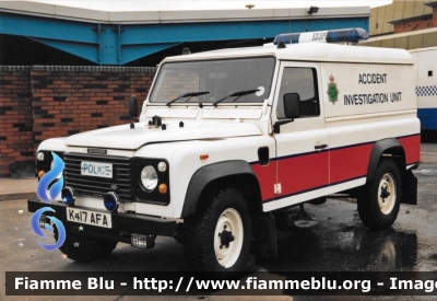
[[(45, 202), (50, 202), (50, 200), (54, 200), (60, 194), (63, 187), (62, 171), (66, 164), (55, 152), (51, 152), (51, 155), (54, 158), (54, 167), (48, 173), (43, 175), (43, 177), (38, 183), (38, 186), (36, 187), (36, 195), (40, 200)], [(50, 200), (49, 200), (47, 197), (48, 186), (54, 180), (58, 177), (59, 177), (58, 182), (56, 182), (50, 187)]]

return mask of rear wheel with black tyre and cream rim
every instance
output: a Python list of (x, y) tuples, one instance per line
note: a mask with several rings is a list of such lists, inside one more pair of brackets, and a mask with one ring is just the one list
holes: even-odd
[(366, 227), (386, 229), (393, 224), (401, 205), (401, 187), (398, 165), (392, 160), (381, 160), (374, 180), (358, 197), (359, 218)]

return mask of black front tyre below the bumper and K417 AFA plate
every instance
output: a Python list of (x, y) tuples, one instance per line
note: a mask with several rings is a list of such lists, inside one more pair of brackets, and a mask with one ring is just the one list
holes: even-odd
[[(98, 258), (106, 258), (117, 246), (117, 241), (75, 234), (68, 231), (68, 229), (66, 230), (66, 242), (59, 250), (75, 262), (92, 262)], [(58, 240), (58, 231), (55, 231), (55, 239)]]

